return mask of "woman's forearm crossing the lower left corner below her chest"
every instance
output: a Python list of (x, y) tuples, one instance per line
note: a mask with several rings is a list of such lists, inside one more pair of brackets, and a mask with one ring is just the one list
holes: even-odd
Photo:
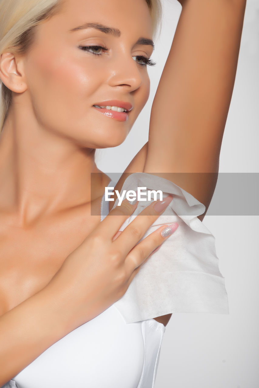
[(69, 291), (58, 283), (28, 298), (0, 317), (0, 386), (49, 346), (80, 326)]

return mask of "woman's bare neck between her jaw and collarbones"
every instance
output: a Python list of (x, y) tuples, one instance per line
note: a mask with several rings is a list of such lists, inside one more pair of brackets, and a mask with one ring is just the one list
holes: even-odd
[(91, 173), (96, 196), (108, 178), (94, 154), (10, 110), (0, 135), (0, 210), (25, 225), (90, 202)]

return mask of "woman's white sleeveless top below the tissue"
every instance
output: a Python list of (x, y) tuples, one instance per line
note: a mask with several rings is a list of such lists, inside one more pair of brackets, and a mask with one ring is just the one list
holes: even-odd
[[(102, 206), (101, 220), (107, 214), (108, 207)], [(50, 346), (4, 387), (153, 388), (164, 332), (154, 319), (126, 324), (111, 305)]]

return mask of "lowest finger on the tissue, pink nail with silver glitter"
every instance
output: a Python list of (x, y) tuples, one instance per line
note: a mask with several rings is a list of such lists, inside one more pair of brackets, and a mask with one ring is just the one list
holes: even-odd
[(174, 222), (171, 225), (162, 225), (131, 249), (125, 258), (127, 276), (130, 277), (131, 273), (142, 265), (151, 253), (154, 253), (156, 248), (160, 248), (161, 244), (163, 244), (178, 227), (178, 222)]

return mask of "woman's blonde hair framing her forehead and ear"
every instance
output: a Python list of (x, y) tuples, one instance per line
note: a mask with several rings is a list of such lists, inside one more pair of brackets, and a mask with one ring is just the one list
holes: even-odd
[[(153, 35), (161, 32), (161, 0), (145, 0), (152, 20)], [(60, 0), (0, 0), (0, 55), (9, 50), (22, 54), (33, 41), (35, 26), (56, 14)], [(0, 132), (12, 102), (12, 92), (0, 80)]]

